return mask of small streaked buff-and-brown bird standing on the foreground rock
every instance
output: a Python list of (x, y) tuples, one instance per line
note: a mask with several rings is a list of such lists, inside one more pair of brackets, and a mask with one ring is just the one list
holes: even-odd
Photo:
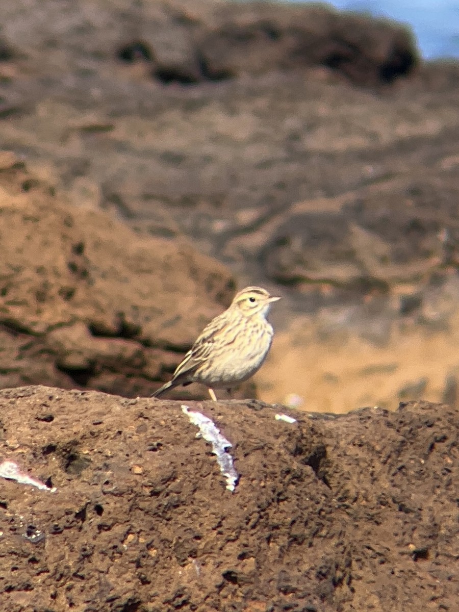
[(230, 307), (204, 327), (172, 379), (151, 397), (179, 385), (201, 383), (217, 401), (214, 389), (231, 389), (253, 376), (271, 348), (274, 330), (266, 315), (277, 300), (280, 296), (261, 287), (239, 291)]

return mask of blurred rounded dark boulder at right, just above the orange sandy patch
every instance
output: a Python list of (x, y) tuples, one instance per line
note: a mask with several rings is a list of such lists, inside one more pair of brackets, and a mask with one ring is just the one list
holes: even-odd
[[(445, 180), (455, 192), (456, 179)], [(271, 239), (262, 251), (267, 274), (284, 285), (324, 283), (366, 294), (372, 289), (388, 293), (401, 283), (416, 286), (423, 277), (425, 287), (434, 271), (444, 274), (442, 228), (459, 244), (457, 213), (449, 198), (444, 206), (431, 203), (436, 181), (433, 176), (419, 179), (408, 193), (405, 185), (401, 190), (394, 185), (390, 195), (362, 192), (356, 203), (338, 211), (296, 213), (300, 206), (293, 206), (276, 226), (269, 225)], [(258, 231), (266, 233), (266, 228)], [(422, 296), (416, 297), (420, 304)], [(416, 308), (416, 302), (408, 308)]]

